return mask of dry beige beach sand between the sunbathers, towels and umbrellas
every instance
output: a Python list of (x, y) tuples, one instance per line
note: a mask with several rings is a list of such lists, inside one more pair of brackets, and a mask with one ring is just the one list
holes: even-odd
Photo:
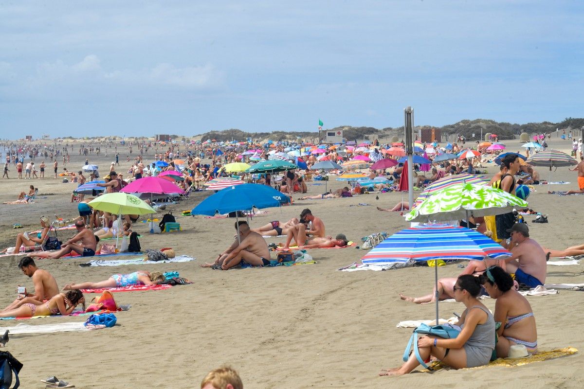
[[(508, 150), (519, 150), (518, 141), (507, 141)], [(552, 148), (569, 152), (568, 141), (552, 139)], [(72, 154), (71, 169), (77, 170), (85, 157)], [(110, 150), (110, 153), (112, 151)], [(89, 156), (102, 166), (109, 158)], [(125, 154), (120, 153), (125, 161)], [(48, 163), (48, 162), (47, 162)], [(129, 163), (123, 162), (127, 168)], [(60, 167), (61, 163), (60, 163)], [(495, 167), (489, 167), (494, 173)], [(14, 168), (11, 175), (15, 175)], [(123, 171), (124, 169), (117, 169)], [(47, 171), (48, 173), (48, 171)], [(543, 178), (548, 171), (540, 168)], [(554, 180), (571, 185), (553, 185), (554, 190), (576, 188), (576, 173), (559, 168)], [(77, 216), (77, 204), (69, 202), (76, 184), (60, 180), (0, 180), (0, 201), (15, 199), (33, 183), (40, 197), (31, 205), (0, 205), (0, 243), (11, 246), (16, 232), (37, 228), (41, 215), (57, 213)], [(343, 183), (330, 181), (329, 186)], [(318, 194), (324, 185), (309, 183), (309, 194)], [(131, 304), (117, 314), (114, 328), (81, 333), (13, 336), (5, 350), (25, 367), (20, 374), (23, 388), (44, 387), (40, 379), (56, 375), (79, 388), (198, 388), (208, 370), (224, 363), (239, 370), (245, 388), (385, 388), (385, 387), (508, 387), (510, 383), (531, 388), (582, 386), (582, 356), (506, 368), (415, 373), (405, 377), (378, 377), (382, 368), (399, 366), (411, 330), (397, 329), (402, 320), (431, 319), (433, 304), (416, 305), (399, 300), (398, 292), (428, 293), (433, 285), (430, 268), (409, 268), (387, 272), (340, 272), (339, 267), (360, 260), (364, 250), (311, 250), (318, 264), (296, 267), (234, 269), (213, 271), (199, 268), (213, 260), (231, 243), (234, 219), (204, 219), (180, 216), (192, 209), (207, 193), (169, 206), (183, 227), (180, 233), (151, 235), (144, 223), (134, 230), (142, 233), (144, 248), (173, 247), (177, 254), (196, 257), (193, 262), (142, 267), (81, 268), (84, 260), (39, 260), (37, 264), (55, 275), (60, 286), (72, 281), (100, 281), (117, 272), (138, 269), (179, 271), (194, 283), (156, 292), (117, 293), (119, 304)], [(393, 206), (401, 194), (361, 195), (321, 201), (296, 201), (293, 206), (269, 209), (253, 219), (252, 226), (270, 220), (288, 220), (303, 208), (320, 216), (329, 234), (345, 233), (359, 241), (367, 234), (395, 233), (408, 226), (398, 212), (376, 210), (376, 205)], [(550, 223), (530, 224), (531, 236), (544, 246), (562, 249), (582, 244), (583, 197), (547, 194), (537, 187), (529, 198), (530, 207), (547, 213)], [(368, 203), (370, 206), (357, 206)], [(350, 206), (354, 205), (354, 206)], [(528, 221), (530, 217), (528, 216)], [(61, 236), (72, 235), (61, 233)], [(278, 239), (269, 239), (269, 242)], [(15, 298), (16, 285), (32, 287), (30, 279), (17, 268), (19, 258), (0, 258), (2, 290), (0, 302), (6, 306)], [(548, 267), (548, 282), (584, 282), (583, 265)], [(456, 265), (439, 268), (440, 276), (456, 276)], [(89, 295), (91, 299), (96, 295)], [(559, 295), (528, 297), (538, 323), (540, 349), (575, 346), (584, 349), (582, 304), (584, 293), (562, 291)], [(494, 309), (494, 300), (486, 306)], [(440, 303), (440, 316), (461, 312), (462, 304)], [(40, 318), (0, 321), (4, 326), (18, 323), (53, 324), (83, 321), (83, 317)]]

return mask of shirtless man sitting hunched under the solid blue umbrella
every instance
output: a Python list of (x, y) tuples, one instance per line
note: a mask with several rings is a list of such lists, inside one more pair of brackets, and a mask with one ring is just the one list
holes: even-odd
[(239, 240), (231, 244), (227, 250), (217, 256), (214, 263), (205, 263), (201, 268), (213, 268), (215, 270), (227, 270), (245, 261), (252, 266), (267, 266), (270, 264), (270, 250), (266, 241), (257, 232), (249, 229), (248, 222), (241, 220), (235, 222)]

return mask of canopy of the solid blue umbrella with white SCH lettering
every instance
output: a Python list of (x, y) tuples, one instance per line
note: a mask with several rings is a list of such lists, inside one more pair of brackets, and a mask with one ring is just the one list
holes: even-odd
[(191, 211), (191, 214), (214, 216), (217, 213), (280, 206), (288, 201), (286, 195), (267, 185), (241, 184), (225, 188), (207, 197)]

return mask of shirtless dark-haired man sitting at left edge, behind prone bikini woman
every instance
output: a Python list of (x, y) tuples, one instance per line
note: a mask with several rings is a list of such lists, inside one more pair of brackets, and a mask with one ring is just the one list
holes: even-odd
[(3, 309), (2, 312), (16, 309), (22, 304), (27, 303), (39, 305), (43, 303), (43, 300), (50, 300), (51, 297), (59, 294), (59, 287), (53, 275), (46, 270), (37, 268), (33, 258), (22, 258), (18, 267), (25, 275), (33, 279), (34, 293), (26, 292), (25, 296), (18, 297), (12, 304)]

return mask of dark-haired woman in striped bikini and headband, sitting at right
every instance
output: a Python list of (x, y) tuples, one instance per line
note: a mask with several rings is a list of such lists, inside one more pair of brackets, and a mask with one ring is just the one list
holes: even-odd
[(527, 351), (537, 352), (536, 318), (531, 305), (521, 293), (513, 288), (513, 279), (502, 268), (492, 266), (486, 269), (483, 286), (495, 302), (495, 321), (501, 325), (495, 350), (498, 358), (507, 358), (509, 348), (524, 345)]

